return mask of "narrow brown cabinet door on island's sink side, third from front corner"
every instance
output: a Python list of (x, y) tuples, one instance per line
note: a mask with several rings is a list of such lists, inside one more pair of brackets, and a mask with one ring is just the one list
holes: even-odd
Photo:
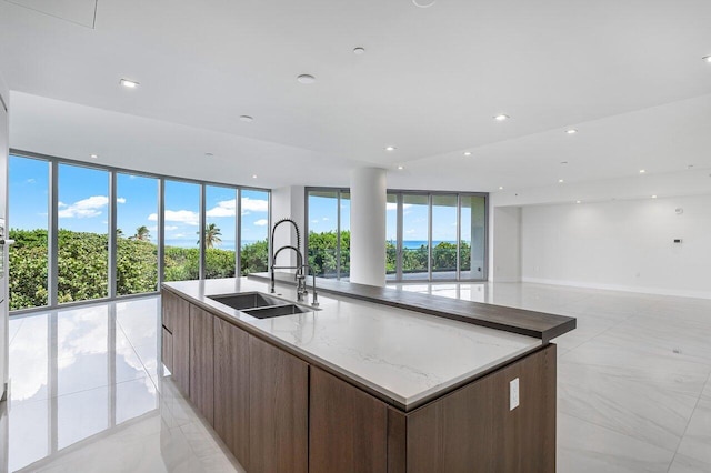
[(249, 466), (249, 334), (214, 319), (214, 431)]

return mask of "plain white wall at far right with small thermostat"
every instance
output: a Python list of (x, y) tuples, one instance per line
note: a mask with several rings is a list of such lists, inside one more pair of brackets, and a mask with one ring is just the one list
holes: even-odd
[(710, 194), (524, 207), (521, 235), (523, 281), (711, 298)]

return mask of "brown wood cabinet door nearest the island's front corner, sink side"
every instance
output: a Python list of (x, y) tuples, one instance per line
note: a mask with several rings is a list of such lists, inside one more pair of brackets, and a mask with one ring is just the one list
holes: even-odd
[(388, 407), (311, 366), (310, 472), (387, 472)]

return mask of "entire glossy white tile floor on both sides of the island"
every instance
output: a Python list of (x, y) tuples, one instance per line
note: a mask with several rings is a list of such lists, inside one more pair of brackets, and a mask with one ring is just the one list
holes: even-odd
[[(711, 300), (400, 286), (578, 318), (554, 340), (559, 472), (711, 472)], [(144, 298), (11, 319), (9, 471), (243, 471), (159, 375), (158, 308)]]

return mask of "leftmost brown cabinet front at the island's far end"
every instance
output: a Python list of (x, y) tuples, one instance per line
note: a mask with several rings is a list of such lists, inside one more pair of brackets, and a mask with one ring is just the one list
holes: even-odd
[[(190, 303), (171, 292), (161, 293), (163, 326), (172, 333), (172, 378), (178, 389), (190, 394)], [(168, 325), (164, 325), (168, 323)]]

